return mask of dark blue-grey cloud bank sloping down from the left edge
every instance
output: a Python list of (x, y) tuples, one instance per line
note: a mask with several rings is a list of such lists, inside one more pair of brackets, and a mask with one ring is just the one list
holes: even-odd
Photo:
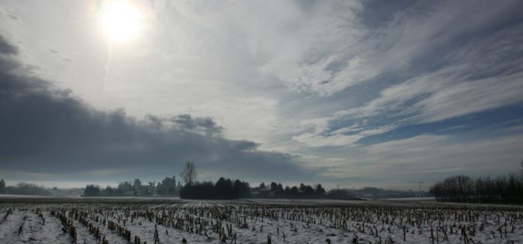
[(29, 72), (11, 59), (16, 48), (1, 36), (0, 51), (0, 171), (162, 177), (176, 174), (191, 160), (213, 172), (211, 178), (312, 176), (293, 155), (259, 151), (255, 142), (222, 137), (223, 128), (211, 118), (137, 119), (123, 109), (93, 109), (71, 91), (24, 75)]

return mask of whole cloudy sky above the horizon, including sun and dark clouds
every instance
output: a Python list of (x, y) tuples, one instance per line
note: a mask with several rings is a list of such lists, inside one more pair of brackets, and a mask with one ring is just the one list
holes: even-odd
[(427, 190), (517, 172), (522, 9), (0, 0), (0, 178), (158, 181), (192, 161), (202, 181)]

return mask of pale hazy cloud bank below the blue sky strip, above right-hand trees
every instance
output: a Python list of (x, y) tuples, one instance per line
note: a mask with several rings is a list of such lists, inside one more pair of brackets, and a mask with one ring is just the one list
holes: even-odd
[[(487, 130), (487, 129), (485, 129)], [(514, 131), (518, 130), (517, 133)], [(506, 174), (520, 170), (521, 127), (461, 135), (418, 135), (407, 139), (351, 148), (335, 160), (311, 158), (324, 165), (325, 178), (360, 176), (408, 185), (407, 180), (438, 181), (454, 174)], [(437, 173), (437, 174), (434, 174)], [(399, 182), (398, 182), (399, 181)], [(372, 183), (372, 181), (366, 181)]]

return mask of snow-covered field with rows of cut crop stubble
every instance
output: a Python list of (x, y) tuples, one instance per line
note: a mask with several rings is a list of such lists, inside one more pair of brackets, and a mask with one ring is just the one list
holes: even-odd
[[(0, 243), (523, 243), (523, 208), (434, 201), (0, 198)], [(130, 240), (130, 241), (128, 241)]]

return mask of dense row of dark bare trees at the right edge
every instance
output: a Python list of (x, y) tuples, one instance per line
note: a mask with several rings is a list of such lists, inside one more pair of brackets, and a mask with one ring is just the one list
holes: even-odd
[(450, 176), (444, 181), (434, 183), (430, 193), (437, 201), (523, 204), (523, 174), (508, 174), (497, 178)]

